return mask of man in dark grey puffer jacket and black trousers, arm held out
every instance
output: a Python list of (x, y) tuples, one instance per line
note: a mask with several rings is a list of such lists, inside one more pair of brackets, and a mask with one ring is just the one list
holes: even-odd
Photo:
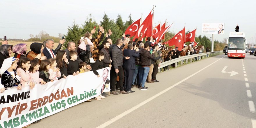
[(115, 91), (115, 80), (117, 76), (119, 76), (119, 84), (116, 86), (120, 88), (120, 94), (129, 94), (125, 92), (124, 90), (124, 72), (123, 72), (123, 60), (129, 59), (130, 57), (123, 56), (122, 49), (120, 48), (123, 45), (122, 39), (117, 39), (116, 46), (113, 47), (111, 50), (112, 55), (112, 68), (110, 70), (110, 88), (111, 88), (111, 94), (118, 95), (118, 93)]

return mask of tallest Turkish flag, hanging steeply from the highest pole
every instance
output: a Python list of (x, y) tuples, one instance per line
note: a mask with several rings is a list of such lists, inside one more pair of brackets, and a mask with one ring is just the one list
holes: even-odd
[(150, 11), (146, 19), (142, 22), (139, 30), (135, 34), (134, 40), (139, 37), (141, 32), (142, 32), (141, 40), (144, 37), (150, 37), (152, 35), (153, 14), (151, 14), (151, 12), (152, 11)]

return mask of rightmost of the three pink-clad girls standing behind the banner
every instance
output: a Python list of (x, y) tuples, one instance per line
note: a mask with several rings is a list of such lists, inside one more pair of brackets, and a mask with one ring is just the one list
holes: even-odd
[(58, 80), (58, 78), (61, 77), (60, 68), (56, 67), (57, 63), (54, 58), (49, 59), (49, 61), (51, 62), (51, 67), (48, 71), (50, 74), (49, 78), (56, 81), (56, 80)]

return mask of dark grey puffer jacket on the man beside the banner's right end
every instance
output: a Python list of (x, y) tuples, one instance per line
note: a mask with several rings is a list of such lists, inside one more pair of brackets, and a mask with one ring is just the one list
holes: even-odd
[(118, 69), (118, 66), (122, 66), (123, 65), (123, 59), (125, 58), (123, 56), (123, 52), (122, 49), (119, 48), (117, 45), (115, 45), (111, 51), (111, 55), (112, 55), (112, 64), (114, 66), (115, 69)]

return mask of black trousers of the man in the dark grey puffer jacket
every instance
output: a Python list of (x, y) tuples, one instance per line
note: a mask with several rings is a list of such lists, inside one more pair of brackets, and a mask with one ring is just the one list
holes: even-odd
[(110, 88), (111, 91), (115, 91), (115, 80), (117, 78), (117, 76), (119, 76), (119, 82), (117, 82), (116, 87), (120, 88), (120, 91), (124, 90), (124, 72), (123, 72), (123, 67), (122, 66), (118, 66), (118, 70), (119, 73), (117, 74), (115, 72), (114, 66), (112, 66), (111, 70), (110, 70)]

